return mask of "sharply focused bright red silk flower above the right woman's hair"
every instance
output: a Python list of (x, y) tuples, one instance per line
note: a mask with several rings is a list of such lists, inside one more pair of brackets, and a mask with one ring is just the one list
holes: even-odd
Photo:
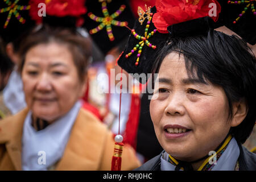
[(218, 19), (221, 6), (216, 0), (156, 0), (156, 13), (152, 22), (162, 34), (168, 33), (167, 27), (172, 24), (209, 16), (210, 3), (216, 4), (216, 16), (211, 18), (214, 22)]

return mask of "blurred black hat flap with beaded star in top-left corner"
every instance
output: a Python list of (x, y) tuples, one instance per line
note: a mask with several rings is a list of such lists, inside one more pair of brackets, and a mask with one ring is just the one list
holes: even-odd
[(35, 25), (29, 15), (28, 0), (5, 0), (0, 2), (0, 35), (9, 43)]

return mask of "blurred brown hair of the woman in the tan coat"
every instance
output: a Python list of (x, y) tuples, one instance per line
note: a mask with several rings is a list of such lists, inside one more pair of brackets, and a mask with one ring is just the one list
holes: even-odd
[(20, 47), (19, 55), (21, 61), (18, 71), (21, 73), (27, 51), (37, 46), (38, 44), (47, 44), (56, 42), (68, 46), (72, 54), (73, 61), (77, 68), (80, 81), (84, 81), (84, 75), (87, 71), (89, 58), (91, 56), (91, 43), (88, 38), (84, 38), (73, 28), (58, 28), (44, 25), (37, 31), (33, 31), (24, 40), (23, 45)]

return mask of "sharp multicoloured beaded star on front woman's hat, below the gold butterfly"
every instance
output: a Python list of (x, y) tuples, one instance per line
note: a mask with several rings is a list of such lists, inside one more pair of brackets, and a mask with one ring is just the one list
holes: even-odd
[(133, 49), (131, 49), (131, 52), (127, 53), (127, 55), (125, 55), (125, 58), (127, 59), (128, 57), (130, 57), (135, 51), (138, 50), (138, 54), (137, 54), (137, 60), (136, 60), (136, 63), (135, 63), (135, 66), (138, 66), (139, 64), (139, 57), (141, 57), (141, 53), (142, 53), (142, 48), (144, 46), (144, 44), (146, 44), (147, 47), (150, 47), (152, 49), (156, 49), (156, 46), (152, 45), (148, 39), (155, 34), (155, 32), (157, 31), (157, 29), (154, 29), (153, 31), (151, 31), (149, 34), (148, 34), (148, 29), (150, 28), (150, 21), (152, 19), (152, 13), (150, 13), (150, 16), (148, 17), (148, 21), (147, 21), (147, 25), (146, 25), (146, 28), (145, 28), (145, 32), (144, 32), (144, 36), (141, 36), (141, 35), (138, 35), (135, 30), (131, 30), (131, 33), (133, 34), (134, 38), (135, 39), (138, 39), (138, 40), (142, 40), (141, 42), (139, 42), (138, 44), (135, 45), (135, 47)]

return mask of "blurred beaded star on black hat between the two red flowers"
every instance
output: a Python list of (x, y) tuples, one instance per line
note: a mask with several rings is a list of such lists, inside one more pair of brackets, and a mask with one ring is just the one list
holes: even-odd
[[(96, 28), (93, 28), (92, 30), (89, 31), (90, 34), (96, 34), (97, 32), (101, 31), (104, 27), (106, 27), (106, 31), (107, 34), (109, 36), (109, 40), (113, 41), (114, 40), (114, 35), (112, 32), (112, 26), (118, 26), (118, 27), (125, 27), (127, 26), (127, 22), (120, 22), (118, 20), (115, 20), (115, 18), (117, 18), (122, 12), (123, 10), (125, 10), (125, 5), (121, 5), (119, 7), (119, 9), (117, 11), (115, 11), (115, 13), (113, 13), (112, 15), (109, 15), (109, 11), (108, 8), (106, 6), (106, 1), (102, 1), (100, 0), (99, 2), (101, 2), (101, 6), (102, 6), (102, 13), (104, 15), (104, 17), (99, 17), (94, 15), (93, 13), (88, 13), (88, 16), (90, 17), (90, 19), (96, 21), (96, 22), (101, 22), (100, 25), (98, 25)], [(111, 2), (111, 1), (107, 1), (107, 2)]]

